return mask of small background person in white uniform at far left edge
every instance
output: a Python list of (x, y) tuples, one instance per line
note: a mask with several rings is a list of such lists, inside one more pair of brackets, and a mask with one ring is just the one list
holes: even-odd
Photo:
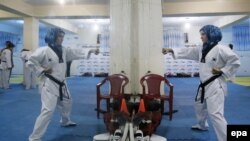
[(0, 60), (1, 60), (0, 87), (4, 89), (9, 89), (10, 88), (9, 80), (10, 80), (11, 70), (14, 67), (13, 48), (15, 47), (15, 45), (11, 41), (6, 41), (5, 45), (6, 47), (2, 49), (0, 53)]

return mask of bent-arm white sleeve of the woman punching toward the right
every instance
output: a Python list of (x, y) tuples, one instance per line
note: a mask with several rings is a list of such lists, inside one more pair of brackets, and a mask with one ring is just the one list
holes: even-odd
[(33, 70), (37, 76), (40, 76), (44, 71), (44, 68), (42, 67), (42, 61), (44, 60), (45, 55), (46, 54), (44, 50), (37, 49), (34, 53), (31, 54), (28, 62), (26, 63), (27, 67)]

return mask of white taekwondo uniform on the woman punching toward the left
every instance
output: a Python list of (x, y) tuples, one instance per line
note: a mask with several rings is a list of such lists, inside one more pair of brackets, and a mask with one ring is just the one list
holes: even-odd
[(204, 83), (213, 76), (212, 68), (219, 68), (222, 76), (205, 86), (204, 102), (201, 103), (201, 90), (195, 102), (196, 117), (201, 128), (208, 127), (207, 116), (210, 117), (219, 141), (226, 141), (227, 121), (224, 118), (224, 99), (227, 94), (226, 79), (234, 76), (240, 66), (240, 60), (229, 47), (216, 45), (206, 55), (202, 63), (202, 47), (174, 49), (176, 59), (190, 59), (199, 62), (200, 81)]

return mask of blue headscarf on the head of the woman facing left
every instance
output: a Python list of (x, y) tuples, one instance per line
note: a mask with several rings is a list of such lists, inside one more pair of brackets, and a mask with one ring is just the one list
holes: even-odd
[(209, 45), (217, 44), (222, 39), (221, 30), (214, 25), (205, 25), (200, 31), (207, 35)]

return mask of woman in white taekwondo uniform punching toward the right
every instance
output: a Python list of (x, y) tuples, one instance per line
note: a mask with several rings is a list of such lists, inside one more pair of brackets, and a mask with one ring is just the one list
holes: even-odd
[(52, 28), (48, 31), (45, 42), (48, 47), (37, 49), (29, 58), (27, 65), (41, 76), (42, 109), (29, 141), (41, 141), (52, 114), (57, 106), (61, 114), (61, 125), (76, 126), (70, 120), (72, 99), (65, 81), (66, 62), (75, 59), (89, 58), (91, 53), (99, 54), (99, 49), (91, 49), (86, 53), (82, 48), (62, 47), (64, 31)]

